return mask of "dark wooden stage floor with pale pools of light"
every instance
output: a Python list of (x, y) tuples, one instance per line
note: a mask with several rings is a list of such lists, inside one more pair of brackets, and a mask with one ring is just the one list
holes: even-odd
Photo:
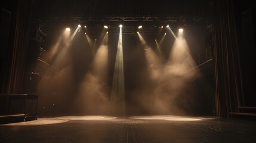
[(256, 122), (179, 116), (49, 117), (0, 125), (0, 142), (256, 142)]

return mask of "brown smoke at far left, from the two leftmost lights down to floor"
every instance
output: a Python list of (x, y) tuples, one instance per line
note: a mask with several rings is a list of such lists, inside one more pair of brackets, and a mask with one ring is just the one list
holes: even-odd
[[(70, 60), (70, 56), (66, 54), (66, 51), (77, 31), (78, 28), (70, 36), (70, 33), (65, 30), (53, 47), (51, 47), (50, 52), (47, 55), (43, 55), (44, 60), (38, 60), (39, 67), (41, 66), (42, 68), (37, 71), (41, 73), (38, 83), (38, 94), (40, 95), (38, 111), (40, 114), (67, 113), (67, 107), (70, 105), (70, 99), (67, 97), (73, 94), (73, 89), (75, 88), (72, 76), (73, 70), (72, 66), (66, 66), (61, 69), (58, 69), (58, 67), (61, 67), (61, 63)], [(45, 66), (48, 63), (51, 66)]]

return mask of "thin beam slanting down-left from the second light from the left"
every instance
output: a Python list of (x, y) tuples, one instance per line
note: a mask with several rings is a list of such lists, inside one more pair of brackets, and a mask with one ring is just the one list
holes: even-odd
[(60, 67), (61, 61), (63, 60), (64, 55), (67, 52), (67, 49), (70, 47), (70, 45), (71, 45), (71, 43), (72, 43), (72, 41), (73, 41), (73, 39), (74, 39), (74, 37), (75, 37), (75, 35), (76, 35), (76, 33), (78, 32), (79, 29), (80, 29), (80, 27), (77, 27), (75, 32), (73, 32), (72, 36), (70, 36), (70, 38), (66, 42), (66, 44), (63, 47), (60, 47), (61, 48), (60, 52), (55, 53), (56, 56), (52, 60), (52, 63), (53, 63), (52, 65), (54, 67), (57, 67), (57, 68)]

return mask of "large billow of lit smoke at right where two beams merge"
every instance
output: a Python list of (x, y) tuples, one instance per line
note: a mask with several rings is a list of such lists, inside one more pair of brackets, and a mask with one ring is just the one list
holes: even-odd
[(147, 44), (143, 48), (152, 83), (140, 96), (143, 108), (150, 114), (186, 114), (195, 99), (193, 81), (199, 76), (186, 40), (178, 36), (164, 66)]

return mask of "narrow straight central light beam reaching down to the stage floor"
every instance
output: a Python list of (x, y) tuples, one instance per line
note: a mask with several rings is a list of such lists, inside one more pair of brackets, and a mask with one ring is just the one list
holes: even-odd
[(110, 96), (110, 102), (112, 104), (112, 114), (125, 116), (124, 61), (121, 26), (118, 39), (118, 49), (116, 51), (115, 71)]

